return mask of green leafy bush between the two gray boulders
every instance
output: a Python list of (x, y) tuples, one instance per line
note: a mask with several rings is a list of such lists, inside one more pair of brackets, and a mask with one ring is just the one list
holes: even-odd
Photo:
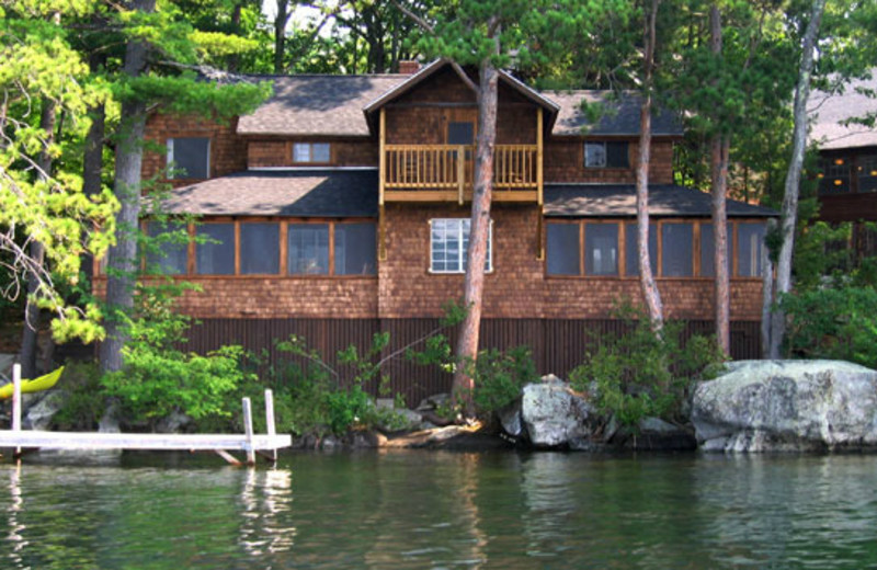
[(713, 339), (682, 342), (681, 323), (667, 323), (659, 335), (645, 315), (623, 308), (619, 317), (629, 332), (599, 339), (596, 351), (570, 374), (572, 387), (595, 392), (597, 410), (626, 425), (646, 417), (677, 419), (690, 383), (710, 374), (725, 356)]

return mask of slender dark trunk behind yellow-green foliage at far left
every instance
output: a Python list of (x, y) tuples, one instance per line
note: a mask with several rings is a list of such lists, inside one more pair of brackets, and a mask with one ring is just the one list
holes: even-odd
[[(39, 130), (44, 133), (44, 148), (37, 158), (37, 166), (39, 167), (38, 176), (42, 181), (48, 181), (52, 178), (52, 155), (48, 152), (48, 147), (55, 141), (55, 123), (57, 122), (58, 113), (57, 105), (48, 98), (43, 99), (43, 111), (39, 115)], [(37, 267), (42, 270), (45, 262), (45, 248), (38, 241), (32, 241), (30, 246), (31, 259)], [(35, 378), (36, 377), (36, 352), (37, 352), (37, 335), (39, 334), (39, 307), (36, 304), (36, 295), (39, 289), (42, 277), (34, 273), (27, 273), (27, 300), (24, 305), (24, 327), (21, 338), (21, 353), (19, 354), (19, 362), (21, 363), (21, 377)]]

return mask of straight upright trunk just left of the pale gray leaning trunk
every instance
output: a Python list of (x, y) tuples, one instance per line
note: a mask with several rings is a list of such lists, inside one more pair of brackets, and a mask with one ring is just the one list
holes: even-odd
[[(721, 15), (717, 4), (709, 9), (709, 38), (713, 54), (721, 57)], [(713, 187), (713, 261), (715, 265), (716, 341), (725, 354), (731, 352), (731, 300), (728, 276), (728, 161), (731, 140), (716, 133), (710, 141), (710, 183)]]

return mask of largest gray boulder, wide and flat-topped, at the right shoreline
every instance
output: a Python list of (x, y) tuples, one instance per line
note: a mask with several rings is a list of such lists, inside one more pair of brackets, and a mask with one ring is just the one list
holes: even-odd
[(840, 361), (740, 361), (697, 386), (702, 448), (798, 452), (877, 447), (877, 372)]

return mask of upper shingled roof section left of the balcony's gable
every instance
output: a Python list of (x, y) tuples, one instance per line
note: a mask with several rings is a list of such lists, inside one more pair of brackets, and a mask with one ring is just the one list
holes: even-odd
[(367, 136), (363, 107), (411, 76), (265, 78), (274, 94), (238, 121), (239, 135)]

